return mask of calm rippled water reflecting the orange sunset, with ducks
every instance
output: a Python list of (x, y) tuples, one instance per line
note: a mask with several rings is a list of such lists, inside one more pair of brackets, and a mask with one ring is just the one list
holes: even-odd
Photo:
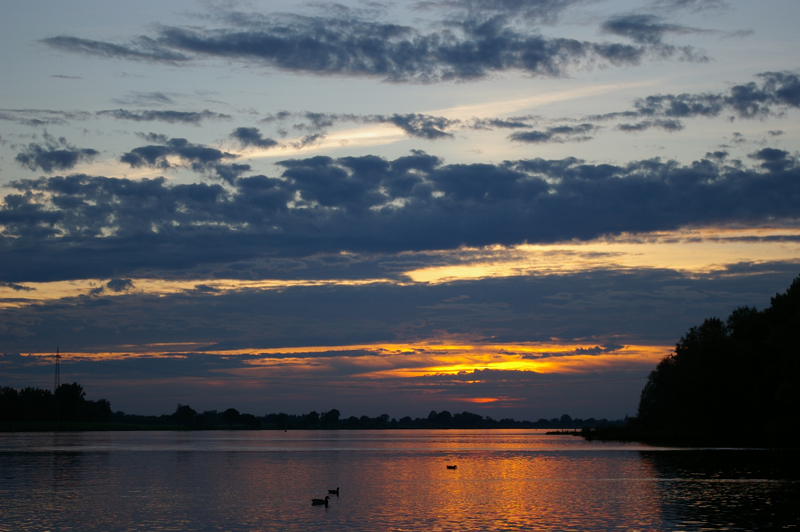
[(794, 454), (530, 430), (0, 434), (0, 531), (796, 529)]

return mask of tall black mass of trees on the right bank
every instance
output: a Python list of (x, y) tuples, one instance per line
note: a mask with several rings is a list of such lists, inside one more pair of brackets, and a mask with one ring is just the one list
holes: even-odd
[(800, 277), (759, 311), (689, 329), (650, 373), (625, 427), (587, 430), (598, 439), (703, 445), (798, 446)]

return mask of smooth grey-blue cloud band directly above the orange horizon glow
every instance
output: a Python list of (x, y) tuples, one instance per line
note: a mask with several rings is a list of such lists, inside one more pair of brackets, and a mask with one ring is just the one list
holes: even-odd
[(0, 308), (0, 345), (5, 352), (46, 352), (56, 342), (87, 350), (182, 341), (206, 349), (268, 349), (413, 342), (445, 334), (489, 345), (560, 338), (598, 345), (583, 354), (599, 354), (613, 352), (612, 344), (672, 345), (707, 317), (724, 317), (745, 304), (764, 308), (797, 268), (769, 264), (709, 275), (594, 271), (224, 294), (202, 288), (164, 295), (103, 291)]

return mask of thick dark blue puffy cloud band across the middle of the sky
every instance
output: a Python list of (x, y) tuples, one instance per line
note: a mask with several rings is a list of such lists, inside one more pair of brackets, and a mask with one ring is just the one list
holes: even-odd
[[(182, 140), (182, 139), (173, 139)], [(158, 166), (167, 143), (136, 153)], [(191, 148), (191, 147), (190, 147)], [(192, 148), (193, 149), (193, 148)], [(222, 152), (185, 157), (213, 168)], [(800, 165), (783, 150), (690, 165), (530, 159), (443, 164), (415, 151), (282, 161), (280, 176), (233, 177), (232, 190), (165, 179), (71, 175), (11, 183), (0, 210), (0, 281), (132, 276), (253, 258), (396, 253), (591, 239), (726, 223), (795, 223)], [(208, 166), (206, 166), (208, 165)], [(239, 172), (241, 174), (241, 172)], [(213, 249), (213, 253), (209, 250)]]

